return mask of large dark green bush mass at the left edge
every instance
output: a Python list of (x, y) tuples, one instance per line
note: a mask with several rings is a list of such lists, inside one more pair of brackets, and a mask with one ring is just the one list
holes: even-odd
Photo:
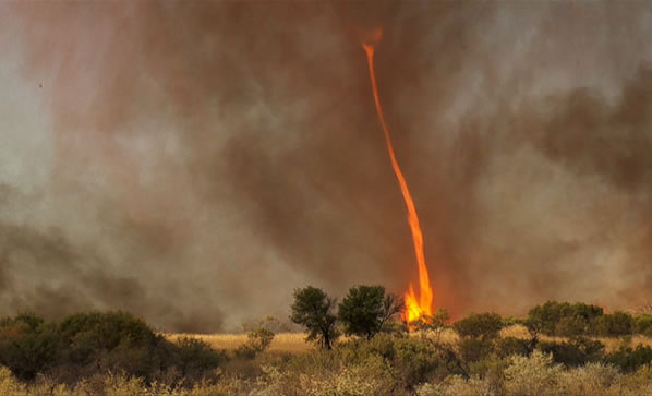
[(23, 381), (52, 374), (74, 383), (119, 372), (149, 383), (170, 370), (198, 380), (225, 360), (224, 352), (196, 339), (169, 343), (124, 312), (80, 313), (60, 323), (31, 314), (0, 320), (0, 364)]

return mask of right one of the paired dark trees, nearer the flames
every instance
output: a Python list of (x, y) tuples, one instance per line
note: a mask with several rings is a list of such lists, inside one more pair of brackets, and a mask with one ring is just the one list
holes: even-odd
[(402, 300), (383, 286), (355, 286), (339, 304), (339, 320), (346, 334), (371, 339), (402, 310)]

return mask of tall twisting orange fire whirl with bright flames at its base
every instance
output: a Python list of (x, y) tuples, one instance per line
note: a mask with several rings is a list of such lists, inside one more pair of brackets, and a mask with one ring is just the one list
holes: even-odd
[[(374, 38), (377, 40), (381, 35), (381, 31), (376, 31)], [(421, 232), (421, 226), (419, 225), (419, 217), (416, 216), (416, 208), (414, 202), (410, 195), (408, 183), (403, 173), (401, 172), (396, 156), (394, 155), (394, 147), (391, 146), (391, 139), (389, 136), (389, 130), (385, 123), (385, 116), (383, 116), (383, 108), (381, 107), (381, 99), (378, 98), (378, 87), (376, 85), (376, 75), (374, 73), (374, 44), (363, 43), (362, 47), (366, 51), (366, 59), (369, 61), (369, 73), (372, 81), (372, 89), (374, 94), (374, 101), (376, 104), (376, 111), (381, 125), (385, 132), (385, 142), (387, 143), (387, 152), (389, 153), (389, 159), (391, 160), (391, 167), (394, 173), (398, 180), (398, 183), (406, 201), (406, 207), (408, 208), (408, 223), (410, 224), (410, 230), (412, 231), (412, 241), (414, 243), (414, 253), (416, 255), (416, 263), (419, 264), (419, 299), (414, 293), (414, 288), (410, 283), (410, 288), (406, 292), (406, 313), (405, 319), (408, 322), (414, 322), (422, 316), (432, 316), (433, 313), (433, 289), (430, 284), (430, 275), (427, 273), (427, 266), (425, 265), (425, 255), (423, 253), (423, 233)]]

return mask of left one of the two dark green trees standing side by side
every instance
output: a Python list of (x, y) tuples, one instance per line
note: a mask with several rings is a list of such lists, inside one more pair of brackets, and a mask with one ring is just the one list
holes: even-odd
[(333, 312), (336, 302), (335, 298), (328, 297), (316, 287), (297, 289), (290, 320), (305, 327), (306, 340), (316, 341), (322, 347), (331, 349), (333, 343), (339, 336), (336, 328), (337, 316)]

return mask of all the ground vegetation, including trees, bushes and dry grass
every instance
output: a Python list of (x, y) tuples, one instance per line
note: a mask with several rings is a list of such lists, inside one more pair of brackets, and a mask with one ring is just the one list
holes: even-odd
[[(594, 305), (551, 301), (524, 319), (471, 313), (449, 323), (440, 311), (408, 332), (396, 314), (387, 315), (395, 302), (386, 300), (376, 286), (351, 288), (338, 307), (319, 289), (299, 289), (291, 317), (315, 343), (300, 340), (301, 334), (277, 335), (287, 327), (266, 317), (249, 323), (229, 351), (212, 348), (217, 336), (164, 336), (124, 312), (80, 313), (59, 322), (33, 314), (5, 317), (0, 394), (652, 393), (652, 340), (636, 335), (649, 331), (648, 313), (605, 314)], [(340, 326), (349, 337), (334, 343)], [(303, 347), (274, 348), (288, 337)]]

